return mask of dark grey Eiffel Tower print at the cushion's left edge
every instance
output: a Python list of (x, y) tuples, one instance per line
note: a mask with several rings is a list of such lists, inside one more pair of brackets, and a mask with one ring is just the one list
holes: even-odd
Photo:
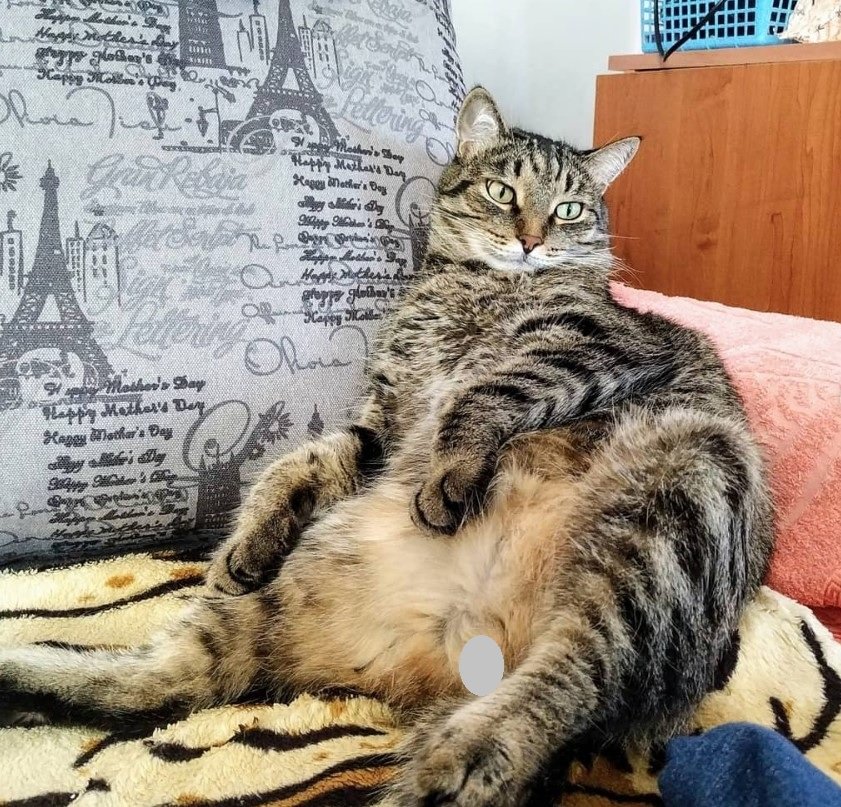
[[(52, 351), (61, 356), (65, 374), (68, 355), (75, 354), (84, 368), (74, 387), (98, 389), (113, 373), (102, 348), (93, 337), (93, 325), (82, 313), (73, 291), (61, 248), (58, 224), (58, 177), (51, 162), (41, 178), (44, 212), (32, 271), (12, 318), (0, 330), (0, 410), (22, 403), (19, 364), (25, 354)], [(34, 364), (38, 359), (33, 359)], [(49, 360), (42, 360), (48, 365)]]

